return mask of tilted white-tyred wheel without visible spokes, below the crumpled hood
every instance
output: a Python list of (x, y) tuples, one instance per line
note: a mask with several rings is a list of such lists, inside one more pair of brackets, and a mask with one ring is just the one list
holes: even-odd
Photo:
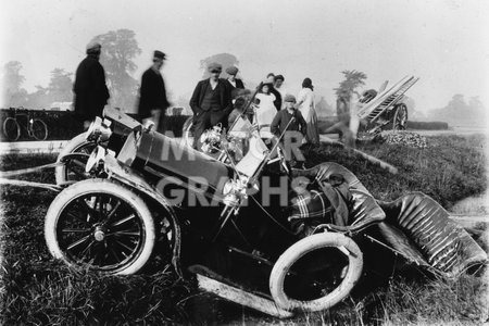
[(269, 290), (284, 310), (322, 311), (350, 293), (362, 267), (362, 252), (352, 239), (341, 234), (316, 234), (279, 256), (269, 276)]

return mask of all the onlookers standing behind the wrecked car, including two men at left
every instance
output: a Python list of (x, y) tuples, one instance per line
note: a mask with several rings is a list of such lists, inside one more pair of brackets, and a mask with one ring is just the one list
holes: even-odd
[[(105, 74), (100, 64), (101, 45), (90, 42), (87, 57), (78, 65), (75, 75), (75, 113), (86, 128), (96, 116), (101, 116), (110, 93), (105, 84)], [(164, 133), (165, 111), (170, 106), (161, 68), (166, 59), (162, 51), (154, 51), (152, 65), (141, 77), (138, 101), (138, 116), (142, 123), (153, 123), (154, 129)], [(210, 77), (199, 82), (190, 99), (193, 112), (195, 147), (200, 149), (202, 133), (221, 124), (227, 128), (234, 120), (241, 116), (242, 96), (251, 91), (237, 78), (238, 67), (226, 68), (227, 79), (221, 78), (223, 66), (218, 63), (208, 65)], [(287, 93), (283, 75), (268, 74), (255, 92), (254, 112), (248, 114), (260, 133), (279, 136), (287, 130), (299, 131), (304, 142), (317, 143), (317, 117), (314, 108), (314, 87), (310, 78), (304, 78), (297, 99)], [(290, 122), (290, 120), (293, 121)], [(266, 137), (266, 136), (265, 136)]]

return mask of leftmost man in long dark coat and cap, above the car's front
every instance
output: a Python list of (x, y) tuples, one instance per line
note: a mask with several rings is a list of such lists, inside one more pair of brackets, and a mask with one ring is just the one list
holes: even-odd
[(105, 72), (100, 64), (102, 46), (98, 42), (87, 45), (87, 58), (78, 65), (73, 92), (75, 93), (75, 115), (84, 129), (88, 128), (96, 116), (102, 116), (103, 106), (109, 100), (105, 85)]

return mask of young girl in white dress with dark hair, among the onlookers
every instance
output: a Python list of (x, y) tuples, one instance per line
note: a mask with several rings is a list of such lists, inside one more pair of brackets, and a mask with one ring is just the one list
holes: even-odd
[(269, 125), (275, 114), (277, 114), (277, 109), (274, 105), (275, 96), (269, 92), (269, 88), (273, 85), (272, 80), (273, 77), (263, 82), (262, 88), (255, 97), (260, 100), (260, 103), (256, 105), (254, 123), (258, 124), (262, 138), (271, 138), (273, 136), (269, 131)]

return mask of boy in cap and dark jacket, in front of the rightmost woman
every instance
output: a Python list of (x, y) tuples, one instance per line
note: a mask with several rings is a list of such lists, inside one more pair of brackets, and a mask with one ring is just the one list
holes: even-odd
[[(269, 128), (272, 134), (276, 137), (284, 137), (280, 139), (280, 145), (285, 152), (286, 160), (292, 167), (304, 166), (304, 155), (302, 155), (299, 147), (306, 133), (308, 126), (304, 117), (294, 106), (296, 97), (286, 95), (284, 98), (284, 110), (280, 110), (275, 115)], [(294, 156), (294, 160), (292, 159)]]

